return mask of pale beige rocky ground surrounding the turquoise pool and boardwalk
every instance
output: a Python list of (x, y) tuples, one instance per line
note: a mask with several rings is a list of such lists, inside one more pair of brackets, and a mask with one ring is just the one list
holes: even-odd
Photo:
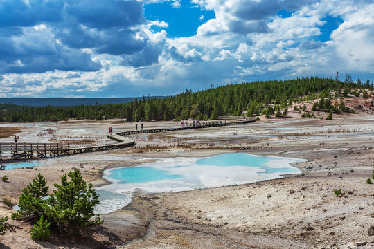
[[(105, 214), (102, 227), (82, 238), (30, 239), (30, 225), (10, 220), (15, 232), (0, 237), (0, 248), (374, 248), (374, 185), (365, 184), (374, 165), (374, 113), (334, 115), (334, 120), (272, 118), (235, 127), (217, 127), (132, 136), (136, 146), (42, 160), (34, 169), (0, 172), (3, 200), (17, 202), (21, 190), (42, 172), (48, 185), (71, 169), (99, 186), (104, 169), (139, 165), (143, 158), (209, 156), (227, 151), (304, 158), (298, 176), (247, 185), (178, 193), (138, 193), (123, 210)], [(179, 127), (179, 122), (145, 122), (145, 129)], [(20, 127), (19, 142), (75, 141), (100, 144), (114, 132), (134, 129), (118, 120), (33, 124)], [(288, 129), (279, 129), (288, 128)], [(292, 128), (292, 129), (290, 129)], [(1, 142), (11, 142), (3, 138)], [(154, 160), (154, 159), (152, 159)], [(334, 189), (341, 189), (336, 196)], [(0, 204), (0, 216), (12, 209)], [(22, 228), (22, 229), (21, 229)], [(357, 242), (366, 242), (356, 246)]]

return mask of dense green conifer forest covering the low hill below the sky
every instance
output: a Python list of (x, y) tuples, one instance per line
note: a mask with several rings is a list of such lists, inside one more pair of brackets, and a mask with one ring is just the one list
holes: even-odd
[[(353, 82), (339, 78), (305, 77), (293, 80), (268, 80), (211, 86), (204, 91), (188, 89), (167, 98), (135, 98), (123, 104), (76, 105), (70, 107), (30, 107), (0, 104), (0, 122), (40, 122), (69, 119), (107, 120), (124, 118), (127, 122), (151, 120), (214, 120), (218, 116), (273, 115), (303, 100), (321, 98), (319, 108), (331, 111), (332, 99), (351, 93), (352, 89), (373, 89), (373, 82)], [(355, 90), (357, 91), (357, 90)], [(335, 93), (335, 94), (332, 94)], [(321, 104), (321, 102), (323, 104)], [(318, 107), (316, 107), (317, 109)], [(338, 110), (339, 111), (339, 110)], [(345, 110), (341, 110), (345, 111)]]

